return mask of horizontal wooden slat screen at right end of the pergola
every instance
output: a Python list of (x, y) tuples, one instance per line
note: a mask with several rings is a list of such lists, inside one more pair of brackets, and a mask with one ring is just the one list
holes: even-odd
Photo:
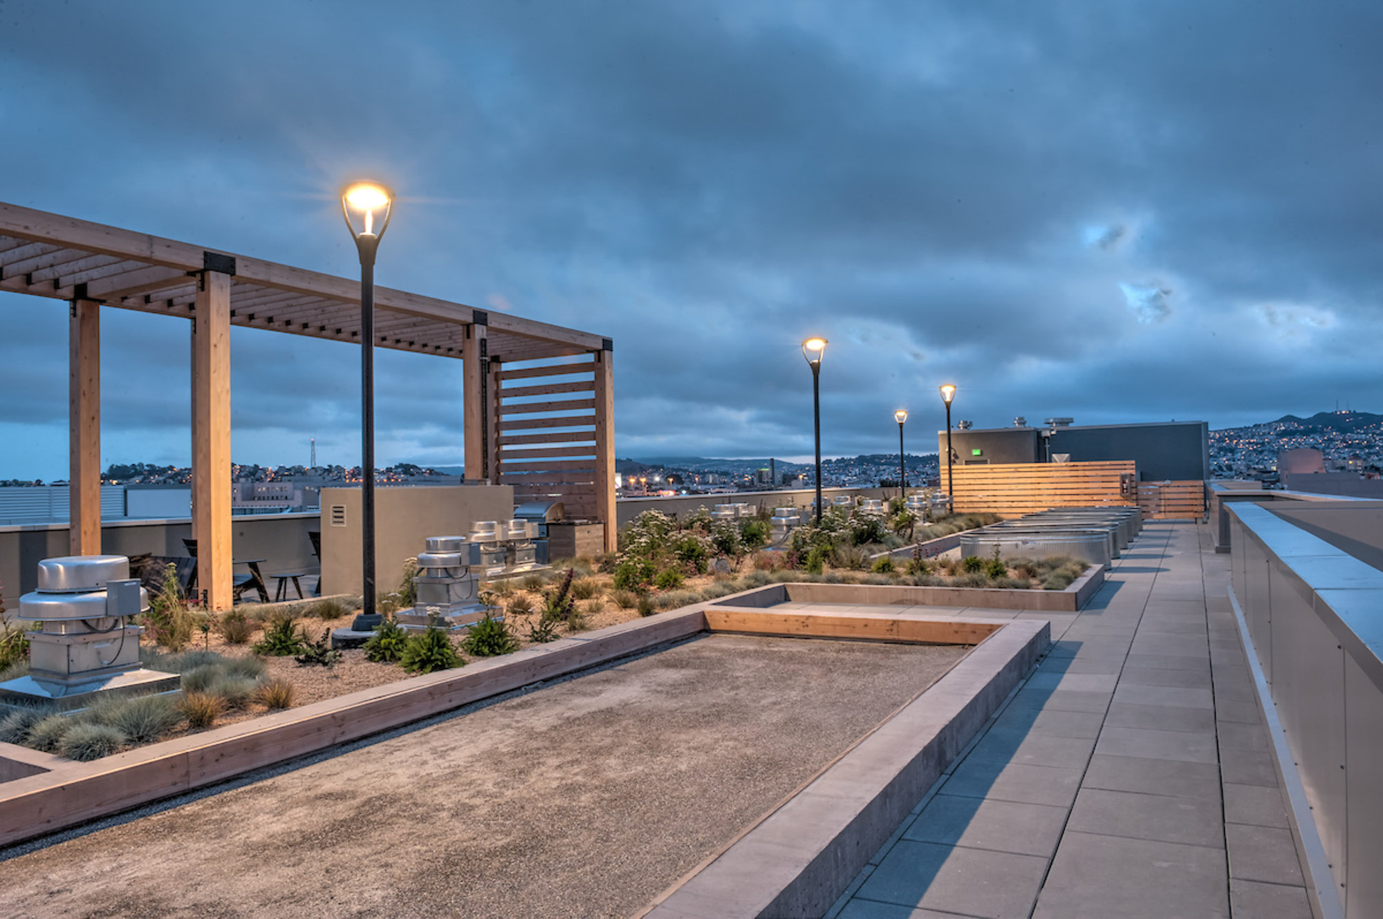
[[(595, 370), (585, 355), (499, 370), (496, 464), (499, 482), (513, 485), (514, 503), (560, 500), (568, 520), (596, 518)], [(544, 383), (555, 376), (578, 379)], [(574, 430), (552, 430), (566, 427)]]

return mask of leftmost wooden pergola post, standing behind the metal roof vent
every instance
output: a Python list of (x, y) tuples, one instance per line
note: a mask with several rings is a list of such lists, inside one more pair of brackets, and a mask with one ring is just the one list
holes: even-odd
[(68, 551), (101, 554), (101, 304), (72, 300), (68, 321)]

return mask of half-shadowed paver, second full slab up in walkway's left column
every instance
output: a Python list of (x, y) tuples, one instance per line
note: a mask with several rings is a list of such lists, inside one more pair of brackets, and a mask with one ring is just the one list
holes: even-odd
[(1050, 858), (1065, 822), (1065, 807), (938, 795), (903, 839)]

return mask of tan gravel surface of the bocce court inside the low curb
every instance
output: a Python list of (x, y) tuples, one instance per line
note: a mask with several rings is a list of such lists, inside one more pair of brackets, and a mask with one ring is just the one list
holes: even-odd
[(0, 912), (625, 916), (964, 654), (703, 636), (0, 851)]

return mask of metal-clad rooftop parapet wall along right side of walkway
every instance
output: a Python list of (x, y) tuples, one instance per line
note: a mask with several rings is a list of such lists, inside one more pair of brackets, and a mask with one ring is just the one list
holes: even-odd
[(1383, 571), (1268, 507), (1225, 513), (1234, 594), (1346, 915), (1383, 915)]

